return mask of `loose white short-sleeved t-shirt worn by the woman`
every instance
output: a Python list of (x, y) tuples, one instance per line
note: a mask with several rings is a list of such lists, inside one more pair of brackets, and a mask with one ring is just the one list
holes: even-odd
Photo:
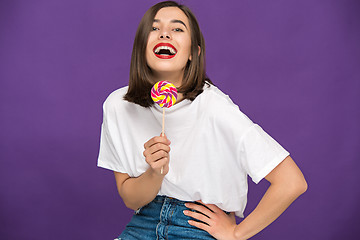
[[(104, 102), (98, 166), (137, 177), (149, 167), (144, 143), (161, 134), (162, 108), (123, 100), (127, 89)], [(243, 217), (247, 175), (258, 183), (289, 153), (213, 85), (165, 110), (170, 170), (158, 195), (202, 200)]]

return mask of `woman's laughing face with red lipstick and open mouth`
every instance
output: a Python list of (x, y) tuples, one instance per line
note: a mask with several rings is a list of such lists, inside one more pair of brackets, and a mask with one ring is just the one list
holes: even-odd
[(191, 35), (186, 15), (177, 7), (160, 9), (146, 46), (146, 61), (155, 77), (182, 77), (186, 63), (191, 60), (190, 53)]

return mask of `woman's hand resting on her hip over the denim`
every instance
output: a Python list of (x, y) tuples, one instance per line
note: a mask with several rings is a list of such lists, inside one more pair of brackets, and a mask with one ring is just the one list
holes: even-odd
[(226, 214), (223, 210), (217, 207), (214, 204), (204, 204), (202, 201), (197, 201), (200, 204), (196, 203), (186, 203), (185, 206), (197, 212), (190, 210), (184, 211), (186, 216), (192, 217), (198, 221), (190, 220), (189, 224), (207, 231), (210, 235), (216, 239), (236, 239), (235, 238), (235, 214), (230, 213)]

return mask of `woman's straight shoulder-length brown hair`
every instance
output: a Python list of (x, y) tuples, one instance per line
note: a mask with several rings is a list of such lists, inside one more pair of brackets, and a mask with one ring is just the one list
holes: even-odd
[[(189, 19), (191, 33), (191, 61), (185, 66), (181, 87), (177, 90), (185, 99), (194, 100), (203, 91), (205, 81), (212, 84), (205, 72), (205, 41), (199, 24), (191, 10), (174, 1), (160, 2), (152, 6), (143, 16), (136, 31), (130, 64), (130, 79), (128, 92), (124, 99), (150, 107), (154, 104), (150, 91), (155, 82), (152, 82), (152, 70), (147, 65), (145, 52), (149, 33), (156, 13), (164, 7), (178, 7)], [(200, 54), (199, 54), (200, 46)]]

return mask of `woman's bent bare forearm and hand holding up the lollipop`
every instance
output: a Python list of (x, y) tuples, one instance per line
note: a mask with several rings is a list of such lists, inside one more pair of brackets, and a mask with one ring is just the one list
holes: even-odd
[[(170, 141), (164, 137), (153, 137), (144, 144), (144, 156), (149, 168), (139, 177), (114, 172), (119, 195), (125, 205), (133, 210), (151, 202), (160, 190), (164, 176), (169, 172)], [(163, 167), (163, 174), (161, 168)]]

